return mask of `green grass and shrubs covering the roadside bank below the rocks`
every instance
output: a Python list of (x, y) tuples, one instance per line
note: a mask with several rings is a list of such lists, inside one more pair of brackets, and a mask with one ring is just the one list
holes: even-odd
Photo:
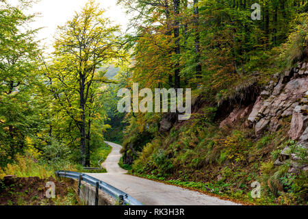
[[(170, 135), (155, 138), (144, 146), (131, 172), (246, 203), (305, 204), (305, 173), (294, 177), (287, 173), (290, 167), (274, 166), (285, 146), (300, 151), (285, 137), (290, 127), (254, 140), (253, 130), (240, 124), (231, 131), (203, 124), (207, 123), (191, 120)], [(261, 183), (261, 198), (251, 197), (253, 181)]]

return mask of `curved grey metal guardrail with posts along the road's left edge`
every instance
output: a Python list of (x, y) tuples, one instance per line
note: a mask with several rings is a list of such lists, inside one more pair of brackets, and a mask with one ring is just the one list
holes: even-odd
[(78, 193), (80, 192), (81, 181), (84, 181), (90, 185), (93, 185), (96, 188), (96, 197), (95, 197), (95, 205), (98, 205), (99, 200), (99, 190), (102, 190), (106, 194), (112, 196), (112, 198), (119, 201), (122, 205), (143, 205), (140, 201), (137, 201), (135, 198), (131, 197), (129, 194), (114, 188), (112, 185), (100, 181), (94, 177), (90, 177), (84, 173), (80, 172), (72, 172), (72, 171), (57, 171), (55, 172), (57, 177), (66, 177), (70, 179), (78, 179)]

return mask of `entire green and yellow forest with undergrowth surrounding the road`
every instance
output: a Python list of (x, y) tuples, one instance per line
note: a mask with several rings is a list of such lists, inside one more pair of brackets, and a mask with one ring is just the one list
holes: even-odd
[[(32, 4), (0, 2), (0, 176), (25, 157), (93, 166), (109, 140), (123, 144), (120, 165), (134, 175), (248, 203), (307, 204), (307, 171), (274, 166), (285, 146), (296, 148), (285, 135), (292, 116), (261, 135), (244, 120), (220, 123), (307, 61), (308, 1), (118, 0), (131, 18), (123, 32), (91, 0), (57, 28), (48, 55), (29, 28)], [(118, 90), (133, 83), (191, 88), (192, 118), (118, 112)], [(261, 199), (249, 193), (253, 181)]]

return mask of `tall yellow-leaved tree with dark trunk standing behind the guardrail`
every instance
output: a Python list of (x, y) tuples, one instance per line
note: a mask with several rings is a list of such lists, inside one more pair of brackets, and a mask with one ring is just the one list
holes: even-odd
[(63, 109), (67, 104), (70, 106), (66, 112), (79, 129), (80, 163), (84, 166), (90, 164), (86, 159), (87, 151), (90, 151), (86, 149), (86, 139), (90, 138), (86, 132), (87, 128), (90, 132), (91, 124), (88, 104), (96, 92), (94, 83), (109, 82), (99, 68), (123, 57), (118, 32), (119, 28), (103, 17), (103, 10), (94, 1), (87, 3), (72, 20), (58, 28), (51, 78), (62, 86), (62, 92), (57, 92), (56, 98), (63, 103)]

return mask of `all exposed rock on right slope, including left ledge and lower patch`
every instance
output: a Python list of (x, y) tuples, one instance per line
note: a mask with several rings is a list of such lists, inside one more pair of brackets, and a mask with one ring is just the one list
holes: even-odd
[[(251, 106), (233, 110), (228, 118), (220, 123), (220, 127), (231, 125), (239, 118), (248, 116), (247, 127), (255, 129), (255, 136), (259, 137), (264, 131), (273, 133), (281, 125), (283, 118), (292, 116), (290, 131), (286, 133), (290, 139), (298, 142), (298, 147), (308, 150), (308, 63), (302, 62), (296, 68), (277, 73), (261, 92), (257, 101)], [(300, 158), (285, 148), (276, 165), (281, 165), (291, 159), (290, 172), (308, 170), (308, 164), (300, 162)]]

